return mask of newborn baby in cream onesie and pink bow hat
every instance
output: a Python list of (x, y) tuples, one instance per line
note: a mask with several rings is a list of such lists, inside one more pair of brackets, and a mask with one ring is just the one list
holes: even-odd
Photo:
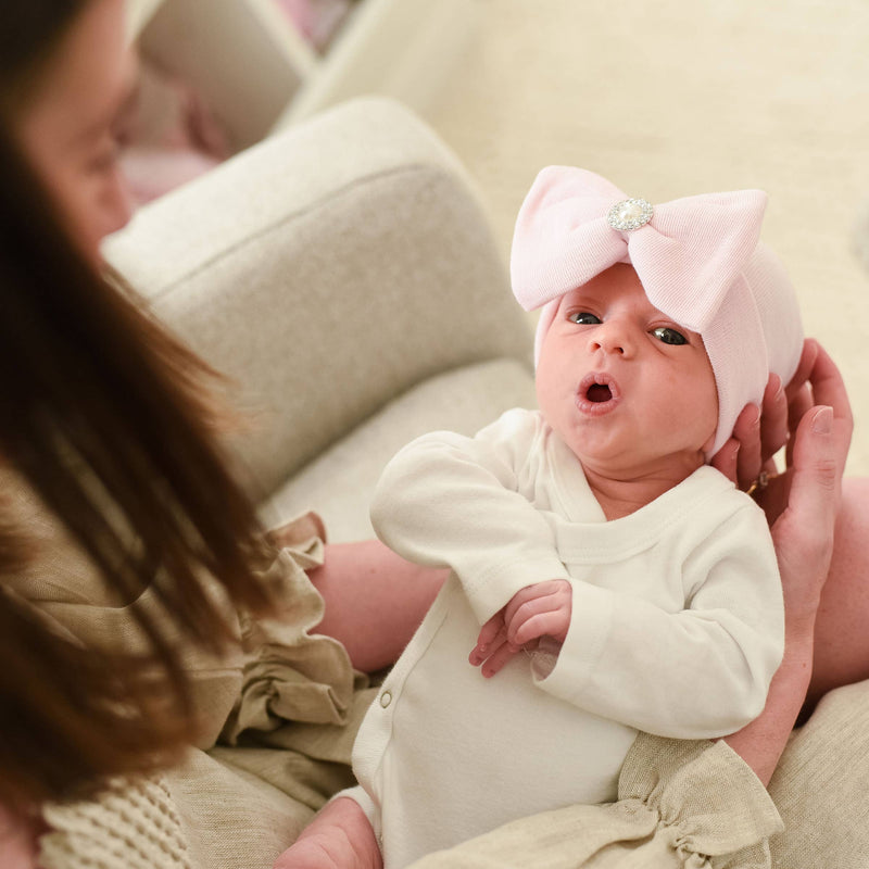
[(539, 411), (419, 438), (371, 507), (395, 552), (452, 568), (343, 792), (387, 869), (614, 799), (638, 730), (715, 739), (761, 711), (783, 651), (776, 555), (763, 512), (707, 463), (801, 355), (765, 204), (653, 207), (557, 166), (534, 181), (512, 277), (543, 308)]

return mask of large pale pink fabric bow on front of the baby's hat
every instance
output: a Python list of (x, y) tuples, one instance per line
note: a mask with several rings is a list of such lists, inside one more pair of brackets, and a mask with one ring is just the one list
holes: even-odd
[(763, 190), (707, 193), (654, 206), (633, 230), (614, 229), (609, 210), (628, 197), (587, 169), (550, 166), (519, 210), (513, 239), (513, 291), (532, 311), (616, 263), (631, 263), (648, 300), (703, 332), (757, 247)]

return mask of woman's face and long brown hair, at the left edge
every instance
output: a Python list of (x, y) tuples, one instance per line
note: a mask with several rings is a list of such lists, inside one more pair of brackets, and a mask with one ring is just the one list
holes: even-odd
[[(176, 637), (222, 656), (239, 632), (224, 599), (269, 603), (257, 574), (274, 551), (217, 446), (213, 373), (98, 276), (101, 238), (129, 216), (115, 161), (135, 77), (123, 11), (15, 4), (0, 36), (0, 804), (18, 823), (203, 741)], [(87, 553), (100, 594), (149, 599), (130, 609), (138, 648), (83, 651), (26, 606), (26, 571), (56, 539), (30, 521), (37, 499)]]

